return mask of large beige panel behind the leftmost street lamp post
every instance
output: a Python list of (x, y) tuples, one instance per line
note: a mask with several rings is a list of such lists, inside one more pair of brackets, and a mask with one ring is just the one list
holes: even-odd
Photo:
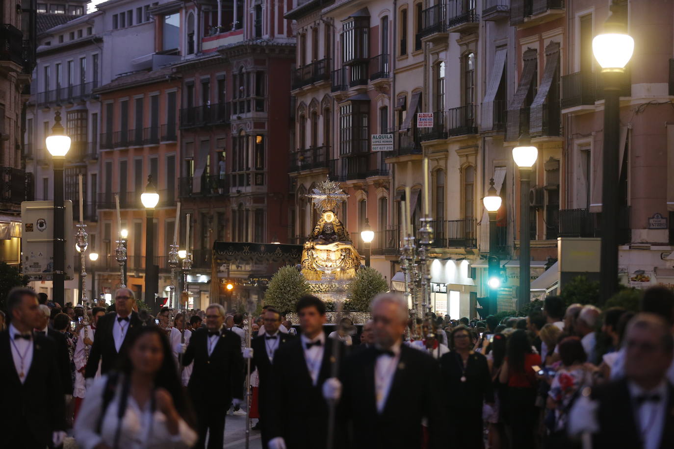
[[(73, 203), (65, 206), (65, 279), (73, 279), (75, 263), (75, 231)], [(31, 281), (51, 281), (54, 271), (54, 203), (53, 201), (24, 201), (21, 203), (21, 262), (22, 272)]]

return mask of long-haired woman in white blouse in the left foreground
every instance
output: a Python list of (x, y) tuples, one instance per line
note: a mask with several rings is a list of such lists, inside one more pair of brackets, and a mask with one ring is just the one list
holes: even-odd
[(96, 380), (75, 421), (82, 449), (190, 448), (197, 434), (164, 331), (143, 327), (119, 372)]

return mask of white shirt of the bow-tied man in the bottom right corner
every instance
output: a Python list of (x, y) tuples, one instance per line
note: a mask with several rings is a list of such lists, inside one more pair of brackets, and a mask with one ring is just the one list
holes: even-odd
[[(665, 416), (667, 415), (667, 382), (663, 381), (656, 388), (646, 391), (634, 382), (627, 382), (627, 388), (632, 396), (632, 409), (637, 423), (637, 429), (641, 436), (644, 449), (658, 449), (665, 428)], [(659, 401), (644, 401), (639, 405), (636, 401), (638, 396), (657, 395)]]

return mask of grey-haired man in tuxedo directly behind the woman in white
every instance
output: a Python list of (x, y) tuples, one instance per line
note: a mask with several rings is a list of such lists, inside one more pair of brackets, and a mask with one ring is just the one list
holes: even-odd
[(142, 321), (133, 311), (135, 298), (133, 291), (127, 288), (115, 291), (115, 310), (98, 318), (96, 339), (89, 352), (89, 359), (84, 370), (84, 378), (90, 383), (98, 371), (106, 374), (115, 367), (117, 357), (126, 349), (129, 337), (140, 331)]

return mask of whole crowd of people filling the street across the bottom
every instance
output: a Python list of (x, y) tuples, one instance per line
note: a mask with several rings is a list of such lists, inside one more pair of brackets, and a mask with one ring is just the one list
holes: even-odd
[(330, 335), (311, 295), (295, 326), (271, 306), (151, 316), (125, 288), (112, 306), (61, 308), (28, 288), (5, 304), (7, 448), (70, 433), (82, 449), (221, 449), (228, 413), (256, 420), (270, 449), (674, 447), (674, 293), (662, 287), (638, 312), (549, 296), (526, 317), (483, 321), (410, 318), (383, 293), (360, 332), (343, 317)]

